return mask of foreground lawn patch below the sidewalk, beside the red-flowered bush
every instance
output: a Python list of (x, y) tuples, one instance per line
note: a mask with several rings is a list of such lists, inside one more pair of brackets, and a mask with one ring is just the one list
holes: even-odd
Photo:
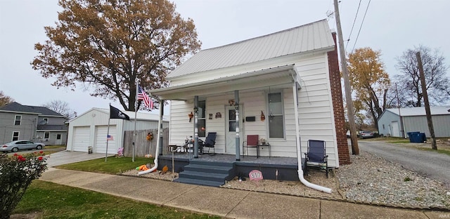
[(34, 180), (13, 213), (39, 218), (220, 218)]

